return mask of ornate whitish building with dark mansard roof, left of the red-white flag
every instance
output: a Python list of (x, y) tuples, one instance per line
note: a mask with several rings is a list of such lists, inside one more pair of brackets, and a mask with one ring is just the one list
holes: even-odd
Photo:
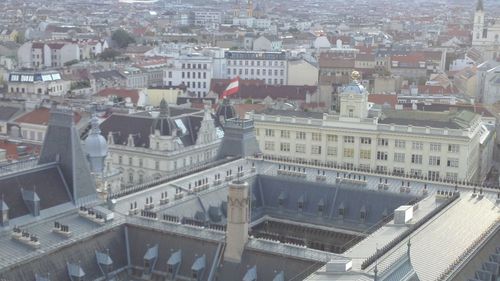
[[(156, 116), (154, 116), (156, 115)], [(224, 133), (205, 111), (169, 108), (150, 115), (113, 114), (101, 124), (109, 155), (106, 169), (117, 169), (122, 183), (187, 172), (217, 159)]]

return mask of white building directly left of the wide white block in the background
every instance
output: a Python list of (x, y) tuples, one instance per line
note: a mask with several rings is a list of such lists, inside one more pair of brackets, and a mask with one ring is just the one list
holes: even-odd
[(184, 84), (188, 91), (204, 97), (210, 91), (213, 59), (199, 54), (181, 55), (165, 70), (163, 78), (167, 86)]

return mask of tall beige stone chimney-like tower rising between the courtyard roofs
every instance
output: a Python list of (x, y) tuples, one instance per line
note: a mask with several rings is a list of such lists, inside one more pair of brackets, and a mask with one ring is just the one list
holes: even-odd
[(250, 221), (248, 189), (248, 183), (243, 181), (234, 181), (229, 185), (226, 250), (224, 252), (226, 261), (241, 262), (241, 256), (248, 241)]

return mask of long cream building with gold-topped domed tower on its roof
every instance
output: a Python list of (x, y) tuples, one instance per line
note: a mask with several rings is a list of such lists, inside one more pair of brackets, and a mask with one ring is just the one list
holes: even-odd
[(356, 81), (340, 94), (340, 114), (268, 110), (249, 113), (269, 156), (431, 179), (482, 180), (494, 132), (470, 111), (383, 110), (369, 115), (368, 92)]

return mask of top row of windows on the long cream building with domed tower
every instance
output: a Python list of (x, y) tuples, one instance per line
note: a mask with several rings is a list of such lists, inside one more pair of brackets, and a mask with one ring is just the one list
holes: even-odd
[[(266, 137), (274, 137), (275, 136), (274, 131), (275, 130), (273, 130), (273, 129), (265, 129), (265, 131), (264, 131), (265, 136)], [(282, 138), (290, 138), (290, 136), (291, 136), (291, 132), (289, 130), (280, 130), (280, 132), (281, 132)], [(259, 135), (258, 129), (257, 129), (257, 135)], [(295, 132), (295, 138), (298, 140), (305, 140), (306, 139), (306, 132)], [(337, 135), (327, 134), (326, 138), (327, 138), (328, 142), (337, 142), (338, 141)], [(321, 133), (311, 133), (311, 140), (321, 141), (322, 134)], [(355, 143), (356, 138), (354, 136), (343, 136), (343, 141), (344, 141), (344, 143)], [(360, 137), (359, 142), (361, 144), (371, 144), (372, 138)], [(389, 139), (377, 138), (377, 145), (378, 146), (389, 146), (389, 144), (390, 144)], [(395, 148), (406, 148), (406, 141), (405, 140), (394, 140), (394, 147)], [(441, 147), (442, 147), (442, 145), (440, 143), (430, 143), (429, 144), (429, 149), (432, 152), (441, 152)], [(447, 147), (448, 152), (458, 153), (460, 151), (460, 145), (458, 145), (458, 144), (448, 144), (445, 147)], [(412, 141), (411, 148), (412, 148), (412, 150), (423, 150), (424, 149), (424, 142)]]

